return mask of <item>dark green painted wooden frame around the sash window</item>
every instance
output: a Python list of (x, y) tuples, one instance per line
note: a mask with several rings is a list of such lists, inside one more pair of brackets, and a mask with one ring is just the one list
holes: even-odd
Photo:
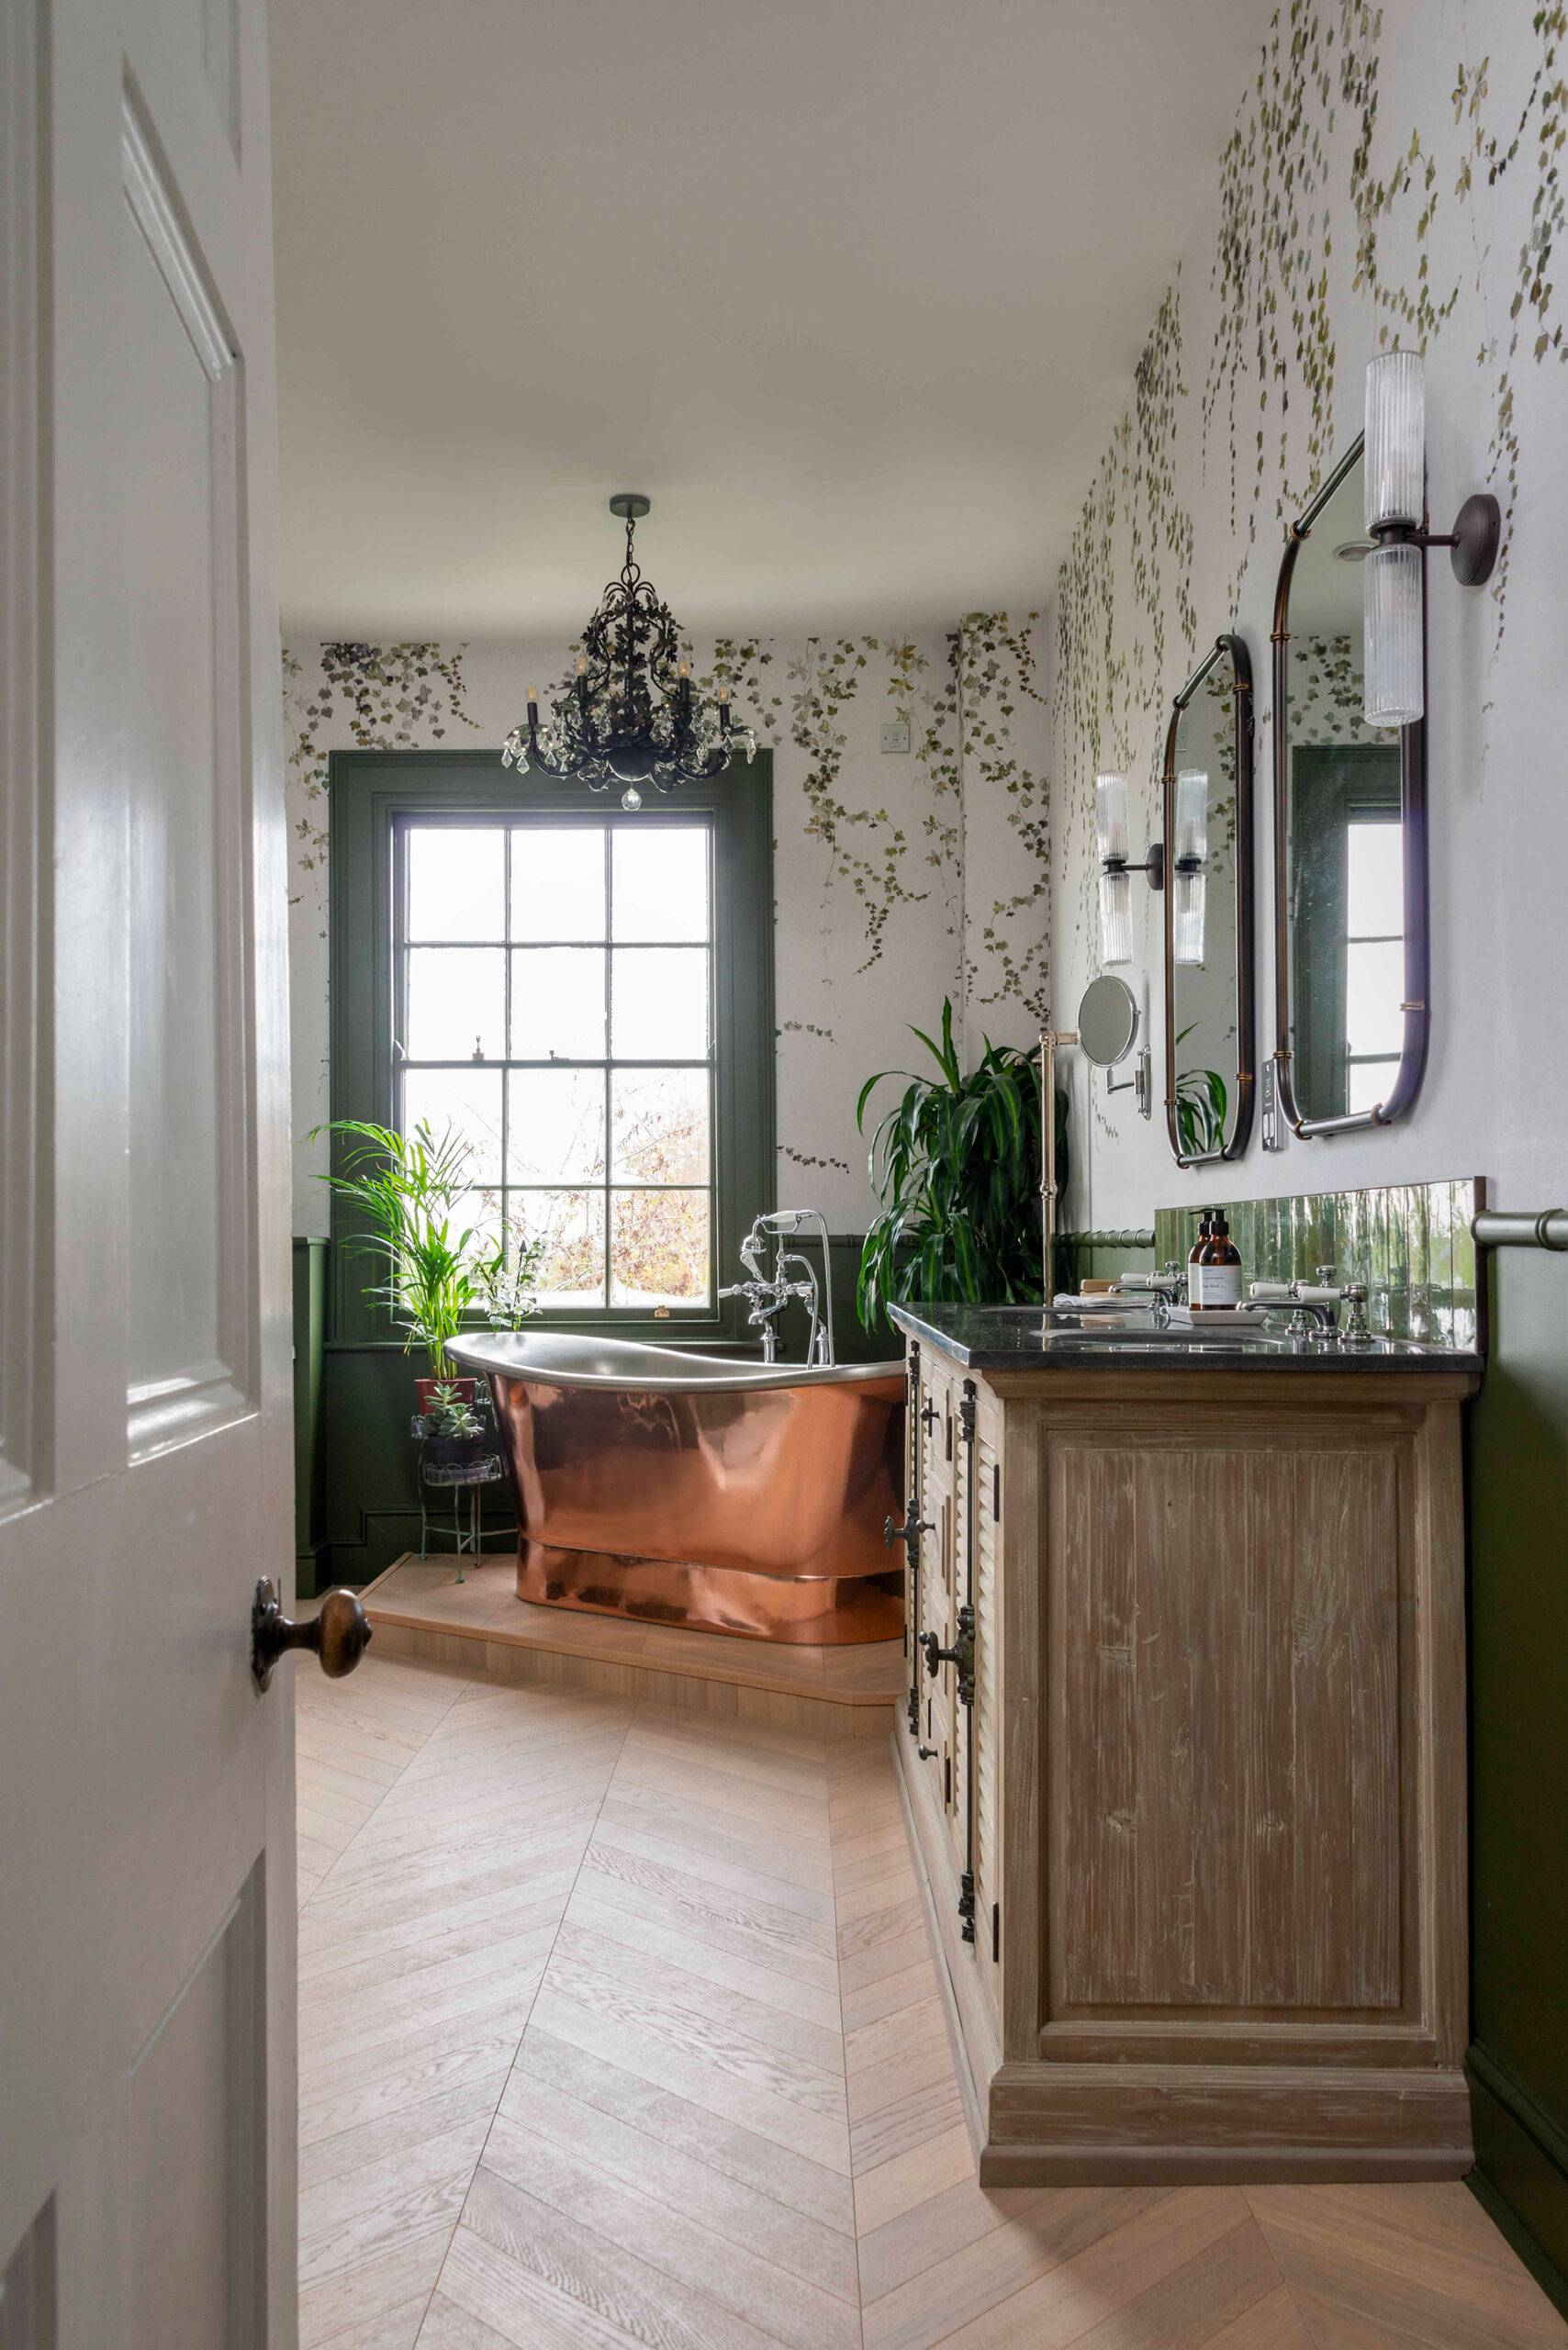
[[(400, 841), (409, 825), (621, 818), (609, 797), (517, 776), (498, 752), (331, 752), (329, 757), (331, 1116), (397, 1123), (395, 1010)], [(773, 1163), (773, 773), (736, 759), (705, 785), (682, 785), (649, 815), (696, 815), (712, 837), (712, 1262), (708, 1307), (545, 1309), (552, 1330), (611, 1330), (661, 1344), (743, 1347), (743, 1309), (717, 1288), (752, 1217), (771, 1206)], [(341, 1147), (334, 1142), (334, 1170)], [(350, 1246), (348, 1206), (331, 1203), (329, 1344), (400, 1347), (386, 1309), (364, 1297), (367, 1260)]]

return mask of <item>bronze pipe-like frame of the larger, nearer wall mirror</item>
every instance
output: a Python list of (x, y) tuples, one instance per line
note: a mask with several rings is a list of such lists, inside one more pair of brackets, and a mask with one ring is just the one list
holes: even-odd
[[(1394, 1086), (1385, 1102), (1373, 1109), (1347, 1109), (1335, 1119), (1305, 1119), (1295, 1104), (1291, 1079), (1291, 872), (1286, 862), (1291, 822), (1291, 578), (1295, 557), (1312, 536), (1335, 489), (1361, 461), (1366, 432), (1333, 468), (1316, 498), (1291, 524), (1286, 552), (1279, 562), (1279, 585), (1274, 588), (1274, 1097), (1279, 1116), (1293, 1135), (1305, 1142), (1314, 1135), (1363, 1133), (1368, 1126), (1392, 1126), (1415, 1102), (1427, 1074), (1427, 1043), (1432, 1034), (1432, 933), (1427, 905), (1427, 724), (1413, 719), (1399, 728), (1399, 822), (1403, 853), (1403, 935), (1406, 935), (1406, 992), (1401, 1001), (1403, 1036)], [(1422, 674), (1427, 667), (1427, 559), (1422, 550)], [(1425, 693), (1422, 693), (1425, 700)]]

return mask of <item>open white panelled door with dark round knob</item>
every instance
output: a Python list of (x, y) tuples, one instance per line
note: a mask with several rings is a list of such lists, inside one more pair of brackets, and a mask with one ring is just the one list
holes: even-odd
[(0, 2345), (280, 2350), (263, 0), (0, 0)]

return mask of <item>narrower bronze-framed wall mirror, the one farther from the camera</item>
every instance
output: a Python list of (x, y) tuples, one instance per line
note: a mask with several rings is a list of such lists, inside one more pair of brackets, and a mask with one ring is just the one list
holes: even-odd
[(1164, 771), (1166, 1128), (1182, 1168), (1253, 1133), (1253, 663), (1218, 637), (1171, 707)]

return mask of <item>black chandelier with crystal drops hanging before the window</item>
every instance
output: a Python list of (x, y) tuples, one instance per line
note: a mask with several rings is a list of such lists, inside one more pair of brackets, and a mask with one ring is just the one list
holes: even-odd
[(637, 569), (632, 533), (649, 501), (621, 489), (609, 510), (625, 522), (621, 578), (604, 590), (583, 630), (576, 677), (550, 700), (545, 719), (529, 686), (529, 714), (505, 738), (501, 761), (559, 783), (576, 778), (590, 792), (623, 783), (621, 806), (639, 808), (639, 783), (658, 792), (708, 783), (736, 750), (750, 759), (757, 743), (731, 721), (729, 686), (719, 686), (717, 703), (696, 698), (675, 616)]

